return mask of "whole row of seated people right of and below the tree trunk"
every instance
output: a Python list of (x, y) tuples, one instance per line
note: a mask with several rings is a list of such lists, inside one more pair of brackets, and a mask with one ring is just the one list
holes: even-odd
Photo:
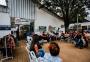
[(88, 47), (88, 37), (86, 36), (86, 32), (78, 32), (78, 31), (72, 31), (72, 32), (61, 32), (60, 40), (63, 39), (63, 41), (74, 41), (75, 47), (79, 47), (80, 49), (84, 47)]

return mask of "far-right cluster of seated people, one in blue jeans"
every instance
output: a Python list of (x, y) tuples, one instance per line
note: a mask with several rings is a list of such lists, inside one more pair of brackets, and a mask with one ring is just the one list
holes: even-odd
[(88, 47), (88, 38), (85, 33), (75, 32), (72, 39), (75, 41), (75, 47), (84, 48)]

